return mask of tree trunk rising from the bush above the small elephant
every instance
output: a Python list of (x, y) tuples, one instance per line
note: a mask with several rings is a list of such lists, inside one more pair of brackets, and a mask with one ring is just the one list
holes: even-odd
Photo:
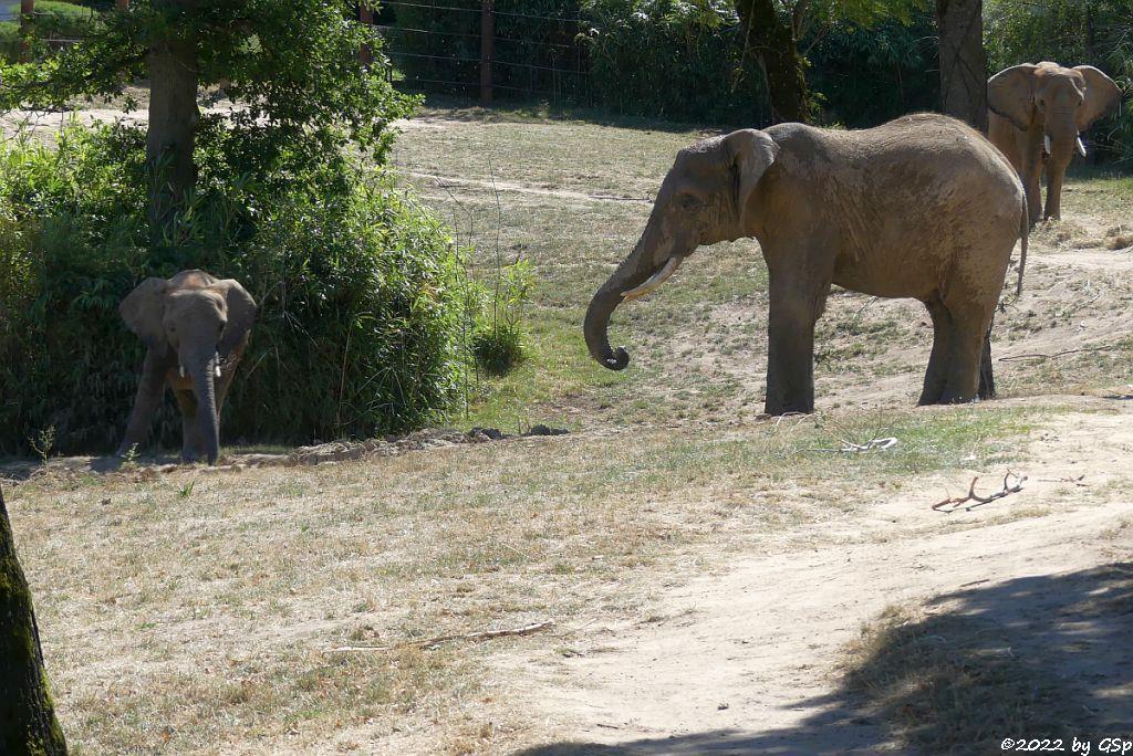
[[(196, 0), (157, 0), (172, 18)], [(178, 24), (170, 25), (177, 29)], [(176, 34), (176, 32), (173, 33)], [(155, 239), (168, 234), (178, 204), (197, 182), (193, 162), (197, 124), (197, 44), (191, 36), (156, 41), (150, 49), (150, 224)]]

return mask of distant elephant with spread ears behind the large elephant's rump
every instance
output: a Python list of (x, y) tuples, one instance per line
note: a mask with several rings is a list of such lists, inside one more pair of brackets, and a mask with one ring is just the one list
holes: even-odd
[(1062, 217), (1062, 184), (1074, 152), (1085, 155), (1080, 136), (1121, 101), (1114, 80), (1092, 66), (1058, 63), (1012, 66), (988, 81), (988, 137), (1023, 179), (1031, 223), (1038, 223), (1042, 195), (1043, 148), (1047, 161), (1045, 218)]

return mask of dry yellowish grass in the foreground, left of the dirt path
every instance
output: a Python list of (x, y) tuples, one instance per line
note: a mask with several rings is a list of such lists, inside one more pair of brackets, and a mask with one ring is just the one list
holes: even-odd
[[(784, 533), (900, 495), (910, 471), (1004, 463), (1031, 421), (989, 410), (223, 476), (46, 475), (10, 506), (62, 721), (86, 753), (461, 751), (469, 738), (500, 750), (533, 723), (502, 708), (489, 654), (647, 615), (658, 569), (708, 542), (717, 558), (783, 548)], [(823, 450), (877, 435), (901, 443)], [(544, 619), (556, 622), (548, 638), (325, 653)]]

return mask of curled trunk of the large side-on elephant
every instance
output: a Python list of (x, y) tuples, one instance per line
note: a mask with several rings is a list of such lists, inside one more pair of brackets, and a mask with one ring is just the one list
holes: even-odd
[(590, 350), (590, 356), (611, 370), (624, 369), (630, 362), (630, 355), (622, 346), (611, 349), (607, 335), (610, 317), (623, 300), (642, 297), (659, 286), (683, 258), (664, 256), (658, 261), (658, 243), (651, 227), (650, 223), (630, 256), (595, 293), (586, 311), (582, 333), (586, 335), (587, 349)]

